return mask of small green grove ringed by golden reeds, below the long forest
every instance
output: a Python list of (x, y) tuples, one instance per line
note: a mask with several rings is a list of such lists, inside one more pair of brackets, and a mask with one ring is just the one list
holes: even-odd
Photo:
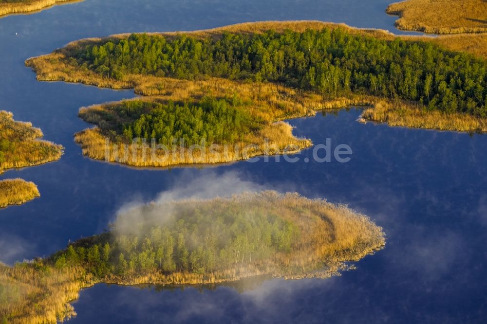
[(244, 109), (235, 108), (240, 105), (235, 96), (231, 100), (206, 97), (184, 105), (124, 101), (115, 109), (119, 118), (130, 120), (119, 127), (125, 140), (155, 139), (169, 147), (174, 139), (183, 139), (186, 145), (201, 144), (203, 139), (206, 144), (233, 144), (242, 140), (259, 123)]

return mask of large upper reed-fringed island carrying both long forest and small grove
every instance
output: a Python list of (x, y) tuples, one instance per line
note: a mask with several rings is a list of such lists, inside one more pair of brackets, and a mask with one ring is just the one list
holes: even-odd
[[(276, 154), (289, 146), (293, 152), (310, 143), (293, 138), (288, 126), (274, 122), (346, 105), (370, 106), (363, 118), (393, 126), (487, 130), (486, 60), (446, 50), (431, 40), (343, 25), (264, 22), (192, 33), (93, 38), (26, 64), (39, 80), (134, 88), (143, 94), (131, 102), (83, 108), (80, 116), (98, 127), (76, 134), (84, 154), (131, 165), (245, 159), (263, 153), (260, 144), (268, 134), (282, 139), (270, 143), (277, 147)], [(208, 107), (208, 102), (240, 111), (244, 118), (240, 122), (248, 120), (252, 125), (236, 126), (230, 120), (228, 129), (244, 127), (252, 138), (212, 137), (218, 123), (205, 122), (208, 116), (202, 107)], [(200, 109), (201, 113), (192, 115), (194, 120), (184, 122), (186, 126), (172, 126), (168, 116), (153, 112), (167, 108)], [(208, 145), (253, 144), (254, 150), (230, 158), (217, 154), (215, 159), (182, 157), (164, 163), (120, 151), (124, 148), (138, 156), (142, 153), (133, 149), (135, 138), (169, 144), (169, 138), (180, 135), (204, 138)], [(112, 145), (108, 156), (106, 138)]]

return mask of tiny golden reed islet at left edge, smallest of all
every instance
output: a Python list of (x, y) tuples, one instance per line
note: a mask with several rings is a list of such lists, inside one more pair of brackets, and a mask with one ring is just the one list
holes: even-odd
[(20, 205), (40, 197), (37, 186), (22, 179), (1, 180), (0, 193), (0, 208)]

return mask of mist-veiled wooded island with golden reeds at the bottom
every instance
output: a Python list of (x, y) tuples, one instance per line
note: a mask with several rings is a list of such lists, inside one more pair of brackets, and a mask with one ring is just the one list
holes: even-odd
[(123, 212), (109, 232), (49, 258), (0, 265), (0, 314), (6, 314), (0, 319), (56, 323), (75, 314), (67, 303), (81, 288), (101, 282), (328, 277), (384, 244), (382, 229), (367, 216), (298, 194), (154, 202)]

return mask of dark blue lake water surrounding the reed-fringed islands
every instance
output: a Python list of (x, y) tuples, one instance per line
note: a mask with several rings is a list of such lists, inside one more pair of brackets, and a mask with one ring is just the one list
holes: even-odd
[[(319, 19), (393, 30), (387, 0), (86, 0), (0, 19), (0, 109), (65, 146), (58, 162), (8, 171), (42, 197), (0, 210), (0, 260), (49, 255), (102, 232), (130, 201), (174, 188), (240, 179), (346, 203), (387, 234), (386, 248), (326, 280), (234, 286), (83, 290), (70, 323), (484, 323), (487, 319), (487, 136), (359, 124), (360, 111), (289, 121), (315, 144), (348, 144), (351, 161), (238, 162), (211, 168), (133, 169), (89, 160), (73, 142), (78, 108), (133, 92), (38, 82), (23, 61), (69, 41), (122, 32), (193, 30), (256, 20)], [(18, 33), (18, 35), (16, 35)], [(304, 162), (309, 158), (310, 162)], [(230, 179), (230, 180), (228, 180)], [(233, 179), (233, 180), (232, 180)], [(195, 184), (196, 183), (196, 184)], [(249, 183), (253, 183), (250, 185)], [(209, 188), (211, 186), (209, 185)], [(235, 188), (227, 188), (228, 191)], [(183, 190), (184, 191), (184, 190)], [(209, 189), (208, 189), (209, 191)], [(208, 195), (213, 191), (209, 191)]]

